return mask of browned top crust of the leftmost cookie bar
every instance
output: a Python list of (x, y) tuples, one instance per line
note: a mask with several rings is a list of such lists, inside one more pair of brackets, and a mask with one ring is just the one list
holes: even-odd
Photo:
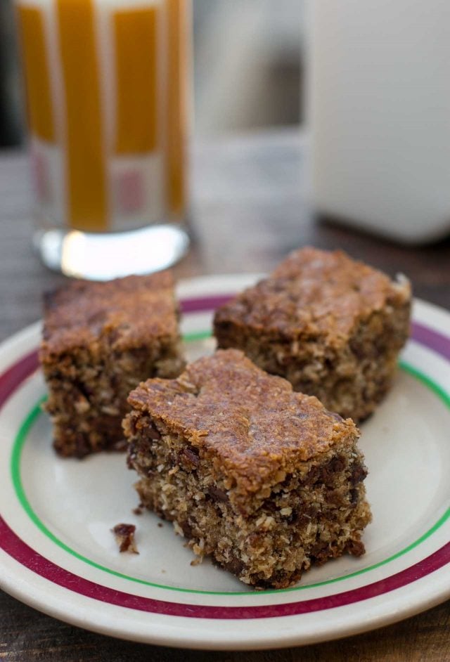
[(46, 294), (41, 361), (77, 347), (122, 351), (176, 337), (173, 287), (172, 273), (164, 271), (106, 283), (77, 280)]

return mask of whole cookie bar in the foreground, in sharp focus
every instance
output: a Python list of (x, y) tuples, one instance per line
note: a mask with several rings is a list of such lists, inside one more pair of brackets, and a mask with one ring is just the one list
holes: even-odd
[(364, 553), (371, 519), (359, 431), (238, 350), (149, 379), (124, 420), (139, 499), (195, 554), (258, 588)]

